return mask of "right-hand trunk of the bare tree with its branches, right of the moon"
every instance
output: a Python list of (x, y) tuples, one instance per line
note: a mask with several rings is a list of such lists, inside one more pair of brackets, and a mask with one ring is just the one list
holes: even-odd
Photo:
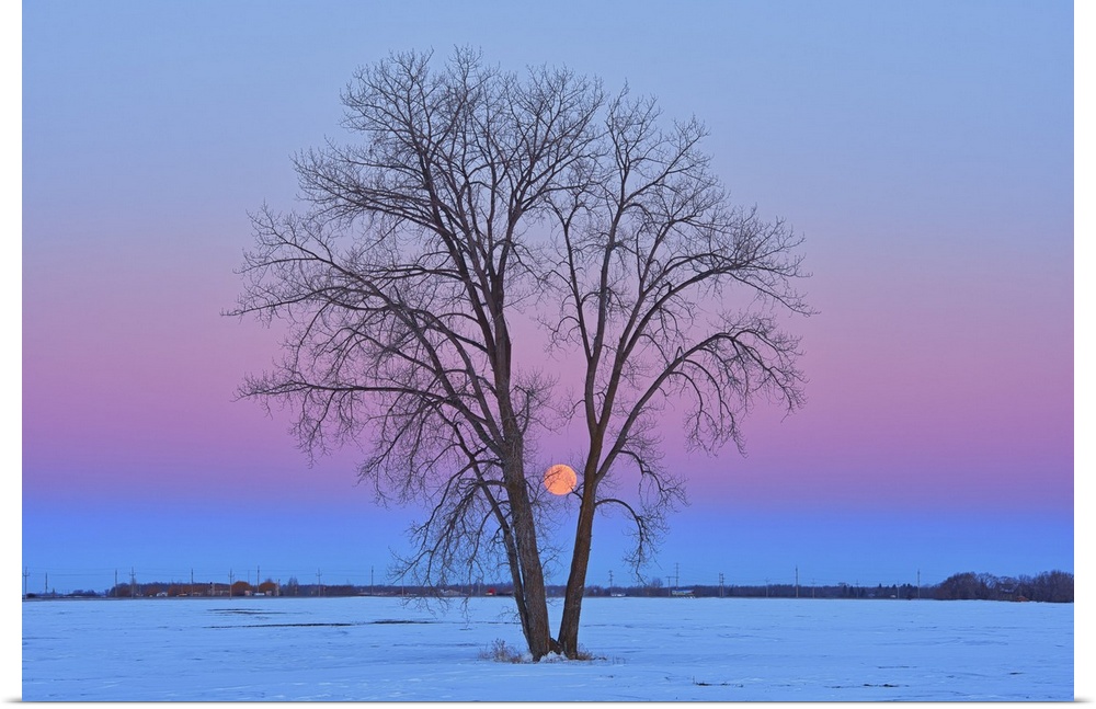
[[(552, 197), (559, 233), (553, 283), (557, 345), (584, 364), (579, 418), (589, 441), (579, 515), (558, 636), (578, 653), (579, 617), (595, 512), (616, 506), (633, 521), (638, 567), (666, 512), (684, 501), (683, 481), (661, 465), (657, 415), (685, 403), (687, 441), (742, 450), (741, 414), (758, 394), (789, 412), (802, 403), (798, 340), (778, 315), (809, 315), (794, 289), (801, 239), (781, 221), (729, 205), (699, 149), (695, 119), (664, 129), (651, 99), (627, 91), (612, 101), (598, 159), (584, 179)], [(638, 481), (636, 502), (602, 494), (614, 477)]]

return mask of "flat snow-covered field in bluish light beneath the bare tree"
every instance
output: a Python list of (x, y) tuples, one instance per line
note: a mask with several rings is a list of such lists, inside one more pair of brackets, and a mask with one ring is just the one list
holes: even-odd
[[(1073, 605), (587, 598), (589, 662), (509, 664), (511, 598), (23, 603), (24, 700), (1072, 700)], [(552, 606), (558, 624), (561, 606)]]

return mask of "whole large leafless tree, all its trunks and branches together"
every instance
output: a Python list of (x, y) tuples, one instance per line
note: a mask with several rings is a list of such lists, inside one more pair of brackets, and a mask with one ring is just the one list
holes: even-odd
[[(573, 657), (595, 512), (635, 522), (638, 568), (684, 500), (660, 465), (660, 407), (688, 402), (690, 443), (715, 449), (741, 446), (758, 393), (800, 404), (797, 341), (775, 312), (808, 312), (789, 285), (798, 238), (728, 206), (704, 129), (660, 128), (653, 101), (606, 101), (564, 69), (505, 73), (467, 49), (431, 60), (361, 69), (342, 95), (361, 142), (297, 157), (302, 214), (253, 215), (232, 313), (288, 334), (241, 394), (292, 405), (310, 456), (368, 441), (359, 474), (378, 499), (426, 503), (400, 575), (439, 585), (498, 562), (533, 657)], [(515, 319), (581, 353), (579, 399), (516, 361)], [(535, 460), (550, 411), (589, 435), (559, 642)], [(638, 491), (617, 494), (628, 479)]]

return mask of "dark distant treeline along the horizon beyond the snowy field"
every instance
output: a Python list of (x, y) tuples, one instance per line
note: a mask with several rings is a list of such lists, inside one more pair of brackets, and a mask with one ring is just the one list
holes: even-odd
[[(549, 585), (550, 596), (562, 596), (564, 586)], [(76, 591), (66, 596), (59, 594), (33, 594), (34, 597), (87, 597), (87, 598), (180, 598), (180, 597), (247, 597), (247, 596), (509, 596), (513, 595), (511, 584), (472, 583), (446, 585), (439, 588), (423, 586), (353, 584), (301, 584), (289, 579), (279, 584), (271, 579), (252, 585), (247, 581), (232, 584), (218, 582), (151, 582), (124, 583), (105, 592)], [(632, 586), (586, 586), (586, 596), (608, 597), (695, 597), (695, 598), (935, 598), (938, 601), (1038, 601), (1043, 603), (1073, 603), (1073, 574), (1064, 571), (1048, 571), (1037, 576), (994, 576), (989, 573), (964, 572), (949, 576), (935, 585), (913, 584), (858, 584), (797, 585), (775, 583), (764, 585), (693, 585), (664, 586), (659, 580)]]

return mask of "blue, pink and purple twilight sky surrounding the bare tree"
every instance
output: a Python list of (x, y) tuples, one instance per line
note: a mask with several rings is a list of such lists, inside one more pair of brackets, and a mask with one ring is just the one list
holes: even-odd
[[(457, 44), (695, 114), (733, 199), (806, 237), (808, 404), (758, 408), (744, 458), (667, 433), (693, 504), (649, 575), (1074, 570), (1071, 2), (38, 0), (22, 27), (28, 590), (383, 579), (418, 511), (233, 401), (277, 338), (219, 313), (353, 70)], [(600, 524), (591, 583), (625, 580)]]

